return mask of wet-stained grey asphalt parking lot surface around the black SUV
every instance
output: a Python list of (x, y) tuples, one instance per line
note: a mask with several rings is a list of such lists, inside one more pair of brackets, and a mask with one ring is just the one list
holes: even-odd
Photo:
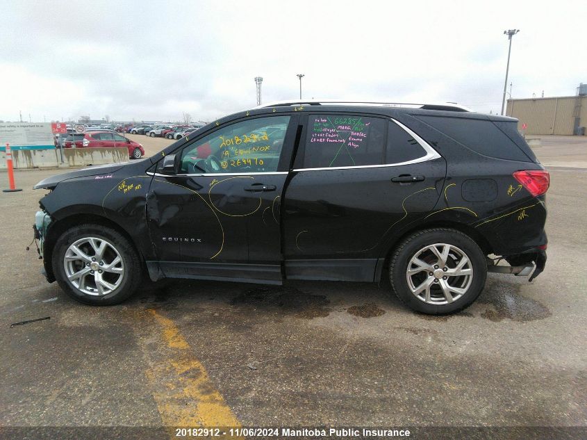
[[(171, 142), (129, 137), (147, 154)], [(143, 426), (163, 439), (163, 425), (556, 426), (585, 438), (587, 140), (576, 141), (536, 149), (552, 165), (545, 272), (531, 284), (488, 275), (449, 317), (406, 309), (389, 282), (145, 282), (119, 306), (78, 304), (25, 250), (42, 196), (31, 188), (64, 170), (16, 172), (22, 193), (0, 195), (0, 427)]]

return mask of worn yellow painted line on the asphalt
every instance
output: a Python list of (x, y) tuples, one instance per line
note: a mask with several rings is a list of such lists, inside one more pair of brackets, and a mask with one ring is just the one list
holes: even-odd
[(165, 355), (146, 372), (163, 425), (241, 427), (175, 323), (154, 309), (147, 313), (158, 323), (165, 344)]

